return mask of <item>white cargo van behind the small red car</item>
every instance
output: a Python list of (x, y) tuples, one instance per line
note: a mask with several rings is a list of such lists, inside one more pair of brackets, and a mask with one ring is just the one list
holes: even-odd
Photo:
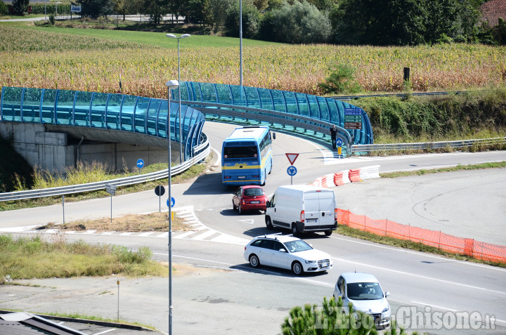
[(267, 202), (266, 226), (298, 232), (325, 232), (337, 229), (337, 202), (333, 190), (311, 185), (280, 186)]

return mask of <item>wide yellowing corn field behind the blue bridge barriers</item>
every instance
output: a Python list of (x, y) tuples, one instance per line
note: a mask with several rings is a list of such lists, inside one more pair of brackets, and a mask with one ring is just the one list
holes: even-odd
[[(91, 48), (93, 46), (93, 48)], [(239, 46), (181, 49), (181, 81), (239, 84)], [(320, 95), (330, 67), (356, 67), (364, 91), (451, 91), (506, 84), (506, 47), (273, 45), (243, 48), (243, 84)], [(0, 26), (0, 86), (60, 88), (166, 98), (177, 50)]]

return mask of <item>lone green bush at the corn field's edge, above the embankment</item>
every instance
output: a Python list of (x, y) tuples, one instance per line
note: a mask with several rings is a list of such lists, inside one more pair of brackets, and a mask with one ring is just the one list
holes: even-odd
[(356, 69), (350, 65), (340, 64), (332, 69), (330, 76), (323, 83), (318, 84), (323, 93), (357, 93), (362, 87), (355, 79)]

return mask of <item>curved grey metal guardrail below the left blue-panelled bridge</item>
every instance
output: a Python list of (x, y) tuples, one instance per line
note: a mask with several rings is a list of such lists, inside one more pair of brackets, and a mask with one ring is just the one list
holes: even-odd
[[(205, 136), (202, 134), (202, 136)], [(205, 142), (197, 147), (194, 147), (195, 156), (186, 160), (182, 164), (171, 167), (171, 176), (179, 174), (183, 171), (190, 169), (191, 166), (205, 159), (211, 152), (209, 141), (205, 138)], [(129, 176), (125, 178), (116, 178), (111, 180), (97, 181), (95, 183), (86, 183), (81, 185), (60, 186), (58, 188), (45, 188), (41, 190), (27, 190), (17, 192), (0, 193), (0, 202), (34, 199), (39, 197), (53, 197), (60, 195), (70, 195), (74, 193), (91, 192), (97, 190), (105, 190), (105, 184), (119, 186), (134, 185), (138, 183), (145, 183), (151, 180), (167, 178), (169, 175), (167, 169), (156, 171), (152, 173), (145, 173), (137, 176)]]

